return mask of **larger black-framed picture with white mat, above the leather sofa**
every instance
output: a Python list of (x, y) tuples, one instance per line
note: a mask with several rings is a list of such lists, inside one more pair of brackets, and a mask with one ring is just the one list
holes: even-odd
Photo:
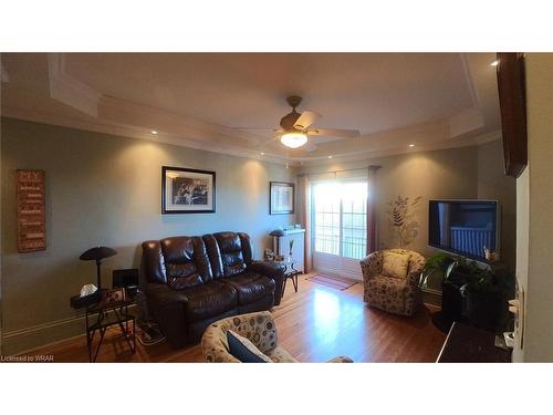
[(161, 214), (213, 214), (215, 172), (161, 167)]

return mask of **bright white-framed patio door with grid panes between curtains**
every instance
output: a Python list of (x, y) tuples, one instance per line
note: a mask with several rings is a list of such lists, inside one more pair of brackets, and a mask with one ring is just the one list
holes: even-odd
[(313, 268), (362, 279), (367, 247), (367, 181), (342, 179), (311, 186)]

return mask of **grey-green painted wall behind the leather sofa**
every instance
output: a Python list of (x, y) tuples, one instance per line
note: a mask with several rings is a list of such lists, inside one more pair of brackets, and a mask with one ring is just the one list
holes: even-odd
[[(294, 222), (293, 215), (268, 214), (269, 181), (295, 178), (281, 165), (9, 118), (1, 133), (4, 353), (83, 333), (69, 301), (95, 281), (94, 264), (79, 260), (93, 246), (118, 251), (103, 264), (107, 287), (113, 269), (139, 266), (144, 240), (246, 231), (259, 258), (270, 243), (267, 234)], [(163, 165), (215, 170), (217, 212), (160, 215)], [(17, 252), (18, 168), (46, 173), (43, 252)]]

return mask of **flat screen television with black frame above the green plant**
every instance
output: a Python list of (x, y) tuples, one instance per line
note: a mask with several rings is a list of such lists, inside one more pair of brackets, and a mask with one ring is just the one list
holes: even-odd
[(486, 247), (499, 258), (499, 219), (497, 200), (430, 200), (428, 245), (477, 260)]

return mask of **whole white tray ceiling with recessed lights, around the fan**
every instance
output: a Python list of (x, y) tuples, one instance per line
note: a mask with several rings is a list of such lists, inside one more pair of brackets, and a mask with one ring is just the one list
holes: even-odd
[[(499, 136), (492, 53), (3, 54), (2, 114), (273, 160), (320, 163), (473, 145)], [(4, 82), (8, 81), (8, 82)], [(317, 127), (289, 152), (270, 132), (298, 108)], [(157, 135), (152, 129), (159, 132)], [(260, 153), (264, 155), (261, 156)]]

